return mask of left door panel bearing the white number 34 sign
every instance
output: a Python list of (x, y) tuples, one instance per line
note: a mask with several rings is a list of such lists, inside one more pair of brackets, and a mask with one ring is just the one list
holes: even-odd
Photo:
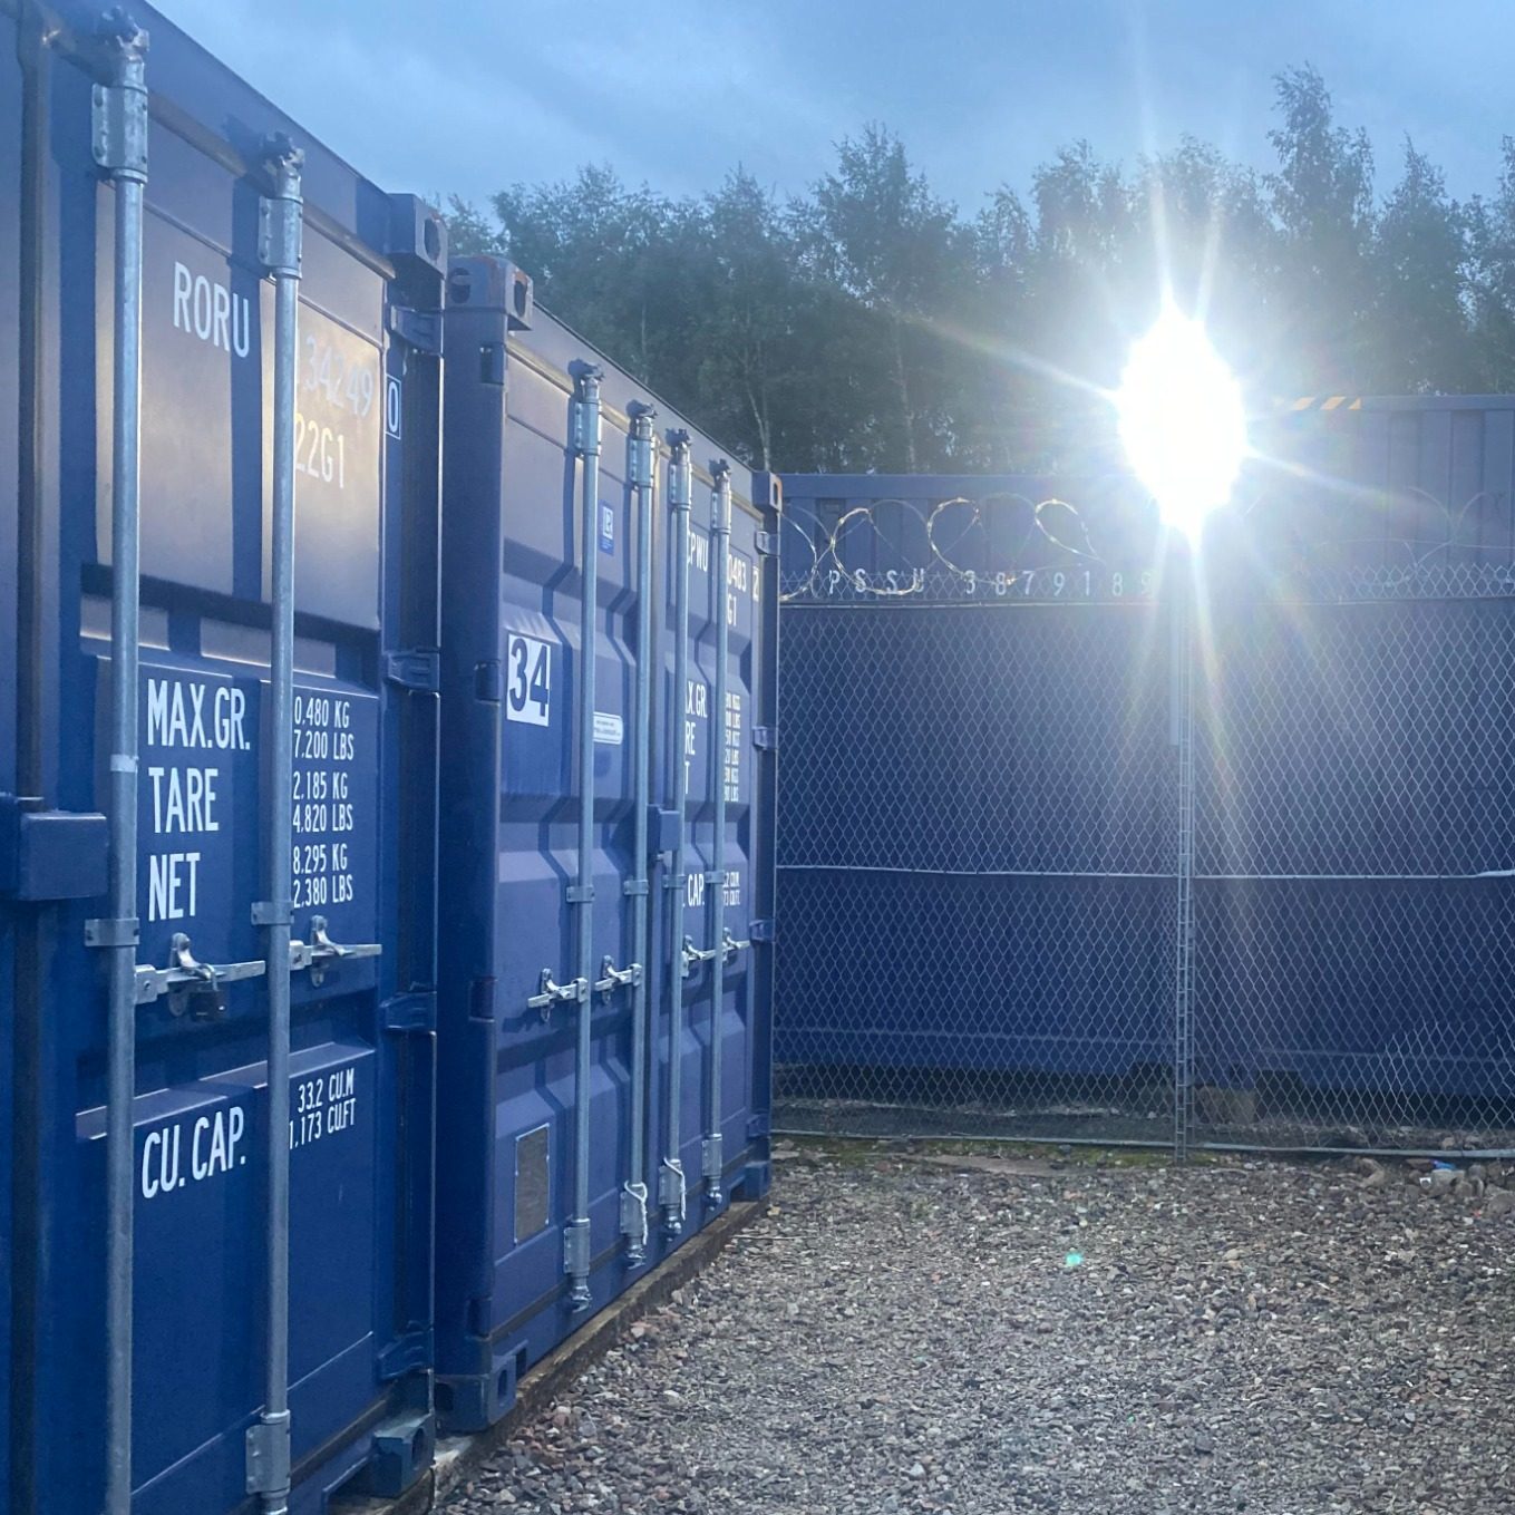
[[(630, 807), (627, 732), (633, 674), (635, 558), (629, 551), (621, 476), (626, 450), (606, 414), (601, 430), (597, 532), (580, 532), (582, 468), (565, 450), (570, 391), (564, 376), (512, 367), (506, 439), (508, 511), (501, 642), (504, 668), (503, 783), (500, 838), (501, 1041), (494, 1168), (495, 1318), (508, 1320), (527, 1301), (554, 1295), (562, 1285), (562, 1227), (573, 1214), (573, 1118), (576, 1098), (576, 1011), (556, 1007), (544, 1018), (527, 1000), (541, 992), (542, 973), (554, 982), (579, 970), (576, 911), (567, 891), (577, 873), (579, 782), (577, 698), (582, 662), (579, 565), (588, 559), (598, 577), (594, 747), (594, 974), (601, 959), (624, 956)], [(609, 517), (606, 517), (609, 512)], [(615, 1192), (623, 1157), (629, 1070), (627, 997), (595, 995), (591, 1092), (592, 1251), (615, 1238)], [(523, 1138), (548, 1127), (547, 1182), (551, 1224), (521, 1236), (517, 1156)], [(532, 1159), (535, 1162), (535, 1159)], [(523, 1170), (524, 1176), (524, 1170)], [(561, 1333), (551, 1321), (544, 1341)]]

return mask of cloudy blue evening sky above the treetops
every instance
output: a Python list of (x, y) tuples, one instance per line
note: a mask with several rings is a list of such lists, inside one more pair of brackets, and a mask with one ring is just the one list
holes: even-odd
[(1373, 139), (1453, 195), (1515, 135), (1512, 0), (158, 0), (385, 189), (483, 201), (611, 164), (698, 194), (742, 164), (779, 192), (882, 123), (974, 214), (1059, 145), (1133, 161), (1183, 133), (1271, 165), (1273, 76), (1310, 62)]

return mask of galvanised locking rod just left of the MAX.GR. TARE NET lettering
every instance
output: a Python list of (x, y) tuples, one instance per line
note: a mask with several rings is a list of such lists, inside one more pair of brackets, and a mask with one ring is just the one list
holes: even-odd
[(111, 954), (106, 1073), (106, 1497), (132, 1509), (132, 1209), (136, 1192), (136, 715), (141, 615), (142, 191), (147, 33), (123, 11), (102, 26), (106, 82), (94, 89), (94, 156), (115, 186), (115, 361), (111, 426)]

